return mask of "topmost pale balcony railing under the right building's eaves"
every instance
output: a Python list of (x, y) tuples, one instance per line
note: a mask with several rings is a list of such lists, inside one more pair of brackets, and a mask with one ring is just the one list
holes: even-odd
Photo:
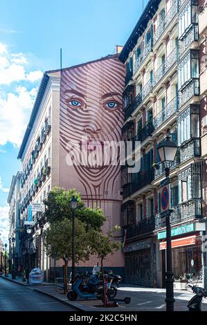
[(177, 0), (175, 0), (174, 3), (172, 3), (170, 10), (168, 10), (168, 12), (166, 13), (165, 18), (163, 19), (163, 21), (161, 21), (161, 24), (159, 24), (158, 28), (156, 28), (154, 32), (153, 35), (154, 44), (156, 44), (156, 41), (159, 40), (164, 30), (166, 30), (166, 28), (168, 27), (168, 25), (170, 24), (174, 16), (177, 15), (177, 10), (178, 10)]

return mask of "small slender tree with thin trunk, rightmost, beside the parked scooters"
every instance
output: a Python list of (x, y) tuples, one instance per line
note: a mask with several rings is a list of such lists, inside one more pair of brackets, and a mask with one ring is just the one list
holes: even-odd
[(101, 264), (101, 273), (102, 273), (102, 284), (104, 288), (104, 305), (106, 307), (106, 288), (105, 288), (105, 278), (104, 278), (104, 268), (103, 261), (107, 257), (108, 254), (113, 255), (116, 250), (120, 248), (120, 242), (115, 241), (114, 233), (120, 231), (120, 227), (118, 225), (114, 226), (114, 228), (107, 232), (107, 234), (102, 234), (102, 232), (93, 232), (93, 241), (91, 250), (93, 254), (98, 255), (100, 258)]

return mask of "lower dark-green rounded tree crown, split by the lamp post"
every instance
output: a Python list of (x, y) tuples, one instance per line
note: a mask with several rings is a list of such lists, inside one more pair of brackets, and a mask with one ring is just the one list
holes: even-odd
[[(89, 259), (91, 230), (86, 231), (84, 223), (75, 219), (75, 261)], [(44, 232), (44, 244), (48, 255), (72, 259), (72, 221), (64, 219), (51, 223)]]

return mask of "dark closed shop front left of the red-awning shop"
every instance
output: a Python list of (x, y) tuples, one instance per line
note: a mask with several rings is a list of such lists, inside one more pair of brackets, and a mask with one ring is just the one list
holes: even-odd
[(139, 286), (156, 286), (155, 244), (153, 239), (125, 245), (125, 281)]

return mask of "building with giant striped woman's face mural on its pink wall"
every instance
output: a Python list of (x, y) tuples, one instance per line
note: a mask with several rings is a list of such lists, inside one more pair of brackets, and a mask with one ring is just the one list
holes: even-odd
[[(109, 55), (61, 71), (46, 72), (39, 86), (18, 156), (23, 170), (20, 210), (25, 228), (21, 234), (21, 250), (23, 265), (42, 268), (46, 281), (53, 279), (54, 274), (62, 274), (62, 260), (46, 256), (42, 234), (47, 224), (43, 214), (33, 213), (30, 230), (25, 221), (29, 206), (42, 203), (53, 187), (76, 188), (87, 206), (102, 208), (108, 217), (105, 231), (120, 225), (120, 166), (78, 165), (71, 164), (70, 160), (74, 141), (79, 146), (82, 136), (88, 161), (93, 160), (89, 157), (91, 140), (96, 146), (121, 140), (124, 78), (122, 62), (117, 55)], [(121, 232), (118, 239), (122, 239)], [(123, 254), (115, 255), (105, 265), (123, 274)], [(91, 268), (95, 264), (96, 257), (91, 257), (78, 267)]]

